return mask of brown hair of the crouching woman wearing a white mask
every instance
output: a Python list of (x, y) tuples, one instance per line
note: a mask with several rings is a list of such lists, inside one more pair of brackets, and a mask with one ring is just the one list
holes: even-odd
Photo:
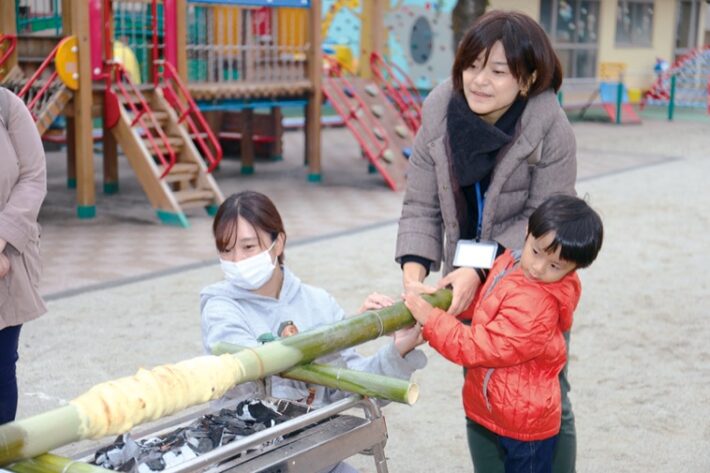
[[(212, 223), (212, 233), (214, 234), (215, 245), (220, 253), (232, 249), (237, 235), (238, 219), (242, 217), (255, 229), (262, 230), (269, 234), (271, 241), (263, 242), (259, 237), (261, 247), (268, 247), (276, 240), (279, 233), (284, 234), (284, 244), (286, 243), (286, 230), (279, 211), (274, 203), (260, 192), (243, 191), (232, 194), (219, 206), (217, 215)], [(283, 264), (284, 253), (279, 256), (279, 263)]]

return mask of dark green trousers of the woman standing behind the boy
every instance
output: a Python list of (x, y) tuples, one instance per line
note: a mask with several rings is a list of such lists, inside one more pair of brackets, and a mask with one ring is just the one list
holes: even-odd
[[(569, 332), (565, 333), (567, 353), (569, 353)], [(569, 362), (568, 362), (569, 364)], [(562, 426), (555, 446), (552, 460), (553, 473), (574, 473), (577, 463), (577, 431), (574, 426), (572, 403), (567, 395), (570, 390), (567, 381), (567, 365), (560, 373), (560, 390), (562, 394)], [(468, 449), (473, 460), (473, 471), (476, 473), (503, 473), (504, 452), (498, 436), (490, 430), (466, 420)]]

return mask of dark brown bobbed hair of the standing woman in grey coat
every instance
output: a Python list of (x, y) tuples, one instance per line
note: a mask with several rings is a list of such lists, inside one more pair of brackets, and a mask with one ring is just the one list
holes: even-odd
[(503, 44), (513, 77), (530, 85), (528, 96), (550, 87), (555, 92), (560, 89), (562, 66), (542, 27), (523, 13), (494, 10), (478, 18), (461, 39), (451, 72), (454, 90), (463, 91), (463, 71), (481, 53), (485, 54), (484, 64), (488, 62), (496, 41)]

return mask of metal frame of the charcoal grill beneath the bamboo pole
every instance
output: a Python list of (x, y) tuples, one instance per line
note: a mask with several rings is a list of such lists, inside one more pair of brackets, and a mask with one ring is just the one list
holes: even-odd
[[(311, 410), (302, 403), (265, 395), (268, 387), (263, 383), (257, 384), (257, 392), (264, 394), (263, 399), (276, 404), (279, 410), (288, 409), (291, 415), (296, 415), (273, 427), (167, 467), (163, 472), (313, 473), (361, 452), (372, 455), (378, 473), (388, 471), (384, 453), (387, 427), (379, 407), (372, 399), (349, 395), (340, 401)], [(139, 440), (167, 435), (203, 415), (216, 413), (222, 408), (233, 408), (239, 401), (234, 399), (220, 405), (210, 405), (187, 416), (157, 423), (133, 438)], [(267, 446), (263, 446), (265, 443)], [(260, 449), (254, 450), (257, 448)], [(93, 457), (94, 450), (75, 458), (90, 462)]]

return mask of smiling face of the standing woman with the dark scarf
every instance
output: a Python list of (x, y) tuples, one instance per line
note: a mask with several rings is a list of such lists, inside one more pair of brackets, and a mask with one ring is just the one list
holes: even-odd
[(510, 108), (520, 93), (520, 84), (513, 77), (500, 41), (491, 46), (484, 65), (483, 51), (472, 65), (463, 71), (463, 93), (469, 108), (491, 125)]

